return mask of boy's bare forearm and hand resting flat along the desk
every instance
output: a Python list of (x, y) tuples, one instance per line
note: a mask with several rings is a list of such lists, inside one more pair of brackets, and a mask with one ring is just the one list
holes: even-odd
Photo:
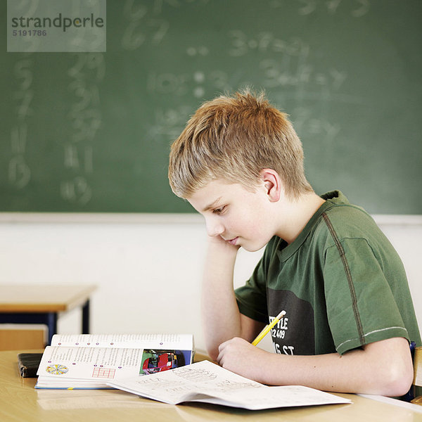
[(413, 380), (409, 343), (389, 338), (351, 350), (316, 356), (265, 352), (241, 338), (219, 347), (217, 362), (229, 371), (269, 385), (306, 385), (324, 391), (404, 395)]

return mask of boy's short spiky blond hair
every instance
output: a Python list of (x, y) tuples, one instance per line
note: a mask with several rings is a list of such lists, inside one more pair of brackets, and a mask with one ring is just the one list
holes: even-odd
[(290, 198), (312, 191), (302, 143), (287, 115), (271, 106), (263, 92), (246, 89), (196, 110), (172, 144), (169, 180), (177, 196), (189, 198), (215, 179), (254, 188), (265, 168), (279, 174)]

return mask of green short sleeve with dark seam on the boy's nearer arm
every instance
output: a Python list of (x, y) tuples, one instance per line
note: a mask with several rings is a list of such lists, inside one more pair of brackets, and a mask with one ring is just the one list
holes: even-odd
[(326, 250), (326, 311), (340, 354), (387, 338), (409, 340), (381, 265), (363, 238), (345, 238)]

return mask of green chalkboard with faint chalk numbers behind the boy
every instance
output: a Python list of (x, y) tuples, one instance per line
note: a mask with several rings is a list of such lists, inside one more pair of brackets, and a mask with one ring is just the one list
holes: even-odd
[(290, 115), (316, 192), (422, 214), (421, 18), (420, 0), (108, 0), (106, 53), (6, 53), (3, 30), (0, 211), (193, 211), (170, 143), (250, 85)]

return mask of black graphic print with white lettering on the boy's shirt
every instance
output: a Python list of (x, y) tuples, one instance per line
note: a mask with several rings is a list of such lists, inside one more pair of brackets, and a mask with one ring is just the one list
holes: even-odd
[(314, 310), (288, 290), (267, 289), (269, 322), (284, 309), (286, 315), (271, 329), (279, 354), (315, 354)]

